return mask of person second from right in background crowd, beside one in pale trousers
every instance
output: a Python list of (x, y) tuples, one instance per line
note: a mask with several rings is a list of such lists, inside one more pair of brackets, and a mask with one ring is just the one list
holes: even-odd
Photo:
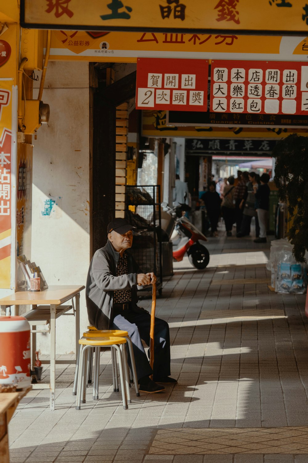
[[(260, 175), (256, 174), (255, 172), (249, 172), (248, 174), (248, 183), (247, 183), (247, 192), (244, 195), (244, 209), (243, 209), (243, 217), (241, 223), (241, 229), (238, 233), (236, 233), (237, 238), (242, 238), (243, 236), (249, 236), (250, 234), (250, 224), (252, 217), (255, 218), (255, 233), (256, 238), (259, 238), (260, 227), (259, 221), (257, 217), (257, 213), (254, 213), (254, 185), (257, 187), (259, 186), (260, 180), (257, 181), (257, 178), (260, 178)], [(248, 204), (251, 207), (245, 207)]]

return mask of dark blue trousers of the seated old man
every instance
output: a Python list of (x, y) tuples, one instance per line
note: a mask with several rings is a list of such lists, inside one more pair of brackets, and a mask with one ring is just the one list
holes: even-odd
[[(125, 330), (132, 339), (138, 379), (151, 375), (153, 379), (170, 375), (170, 339), (169, 325), (166, 321), (155, 317), (154, 329), (154, 365), (150, 367), (141, 339), (150, 345), (151, 315), (146, 310), (135, 312), (132, 309), (114, 311), (112, 330)], [(128, 359), (130, 362), (130, 359)]]

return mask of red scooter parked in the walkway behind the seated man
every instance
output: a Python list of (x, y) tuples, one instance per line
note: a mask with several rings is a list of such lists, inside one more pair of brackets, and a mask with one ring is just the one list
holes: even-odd
[(187, 210), (188, 207), (185, 204), (174, 208), (164, 205), (162, 229), (172, 241), (172, 256), (176, 261), (182, 261), (187, 253), (189, 262), (196, 269), (205, 269), (210, 261), (210, 253), (203, 244), (199, 243), (199, 240), (207, 241), (207, 238), (182, 216), (182, 211)]

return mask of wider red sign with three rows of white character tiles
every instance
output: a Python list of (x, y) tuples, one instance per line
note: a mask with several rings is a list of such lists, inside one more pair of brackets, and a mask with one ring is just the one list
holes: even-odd
[(210, 111), (307, 114), (307, 86), (303, 63), (213, 60)]

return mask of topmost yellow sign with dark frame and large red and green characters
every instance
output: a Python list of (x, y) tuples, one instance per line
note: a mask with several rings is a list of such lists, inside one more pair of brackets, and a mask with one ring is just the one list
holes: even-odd
[(21, 0), (23, 27), (86, 31), (305, 35), (299, 0)]

